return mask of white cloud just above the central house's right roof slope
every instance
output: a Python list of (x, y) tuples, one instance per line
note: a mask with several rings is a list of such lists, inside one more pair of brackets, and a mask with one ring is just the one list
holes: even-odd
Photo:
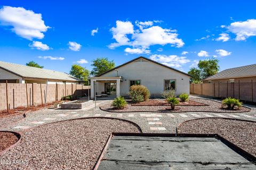
[(162, 63), (164, 65), (176, 68), (180, 68), (183, 64), (190, 62), (190, 60), (188, 60), (187, 57), (179, 57), (177, 55), (167, 56), (154, 54), (150, 56), (150, 59)]

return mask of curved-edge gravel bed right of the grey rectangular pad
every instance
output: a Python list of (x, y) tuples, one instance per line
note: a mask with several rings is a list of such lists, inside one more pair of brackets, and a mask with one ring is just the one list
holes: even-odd
[(218, 133), (256, 156), (256, 123), (223, 118), (191, 120), (178, 126), (178, 133)]

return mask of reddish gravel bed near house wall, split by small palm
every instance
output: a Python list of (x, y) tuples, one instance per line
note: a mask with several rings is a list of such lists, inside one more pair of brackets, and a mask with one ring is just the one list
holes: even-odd
[[(147, 101), (142, 101), (140, 103), (132, 103), (132, 106), (170, 106), (169, 103), (167, 103), (166, 100), (160, 100), (160, 99), (149, 99)], [(188, 101), (180, 101), (179, 106), (206, 106), (203, 103), (198, 103), (193, 100), (188, 100)]]

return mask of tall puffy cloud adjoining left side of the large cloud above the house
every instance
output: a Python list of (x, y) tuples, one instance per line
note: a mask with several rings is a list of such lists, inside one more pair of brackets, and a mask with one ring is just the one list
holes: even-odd
[(116, 21), (116, 27), (112, 27), (110, 31), (113, 34), (113, 39), (117, 41), (117, 43), (112, 43), (108, 46), (110, 49), (123, 45), (131, 45), (130, 39), (126, 36), (134, 32), (133, 24), (130, 21)]

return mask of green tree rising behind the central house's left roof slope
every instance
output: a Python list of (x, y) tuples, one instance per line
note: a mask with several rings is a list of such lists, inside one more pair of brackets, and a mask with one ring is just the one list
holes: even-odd
[(109, 61), (108, 58), (97, 58), (92, 61), (91, 75), (97, 76), (115, 67), (114, 61)]

